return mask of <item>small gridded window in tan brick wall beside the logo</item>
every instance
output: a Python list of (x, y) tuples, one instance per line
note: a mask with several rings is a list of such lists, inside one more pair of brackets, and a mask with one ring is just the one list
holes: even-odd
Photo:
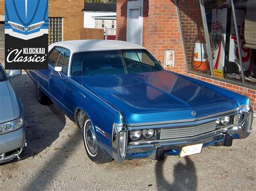
[(63, 18), (60, 17), (49, 17), (49, 34), (48, 34), (48, 44), (56, 43), (62, 41), (62, 24)]

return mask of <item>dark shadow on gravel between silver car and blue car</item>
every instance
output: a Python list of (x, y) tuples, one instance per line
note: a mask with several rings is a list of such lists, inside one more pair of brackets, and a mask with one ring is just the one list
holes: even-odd
[(11, 79), (17, 96), (24, 107), (24, 121), (28, 146), (21, 154), (21, 160), (41, 153), (58, 137), (66, 124), (65, 115), (55, 104), (42, 105), (36, 96), (35, 84), (27, 74)]

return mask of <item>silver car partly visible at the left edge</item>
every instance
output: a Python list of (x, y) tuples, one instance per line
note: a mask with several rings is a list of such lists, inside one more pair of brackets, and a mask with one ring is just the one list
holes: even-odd
[(6, 74), (0, 63), (0, 163), (19, 159), (26, 143), (22, 101), (10, 82), (11, 77), (21, 74), (21, 70)]

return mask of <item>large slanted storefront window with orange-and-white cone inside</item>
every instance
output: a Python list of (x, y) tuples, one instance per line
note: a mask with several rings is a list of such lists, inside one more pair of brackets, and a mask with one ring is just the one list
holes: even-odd
[(180, 0), (178, 8), (188, 70), (256, 88), (253, 0), (186, 3)]

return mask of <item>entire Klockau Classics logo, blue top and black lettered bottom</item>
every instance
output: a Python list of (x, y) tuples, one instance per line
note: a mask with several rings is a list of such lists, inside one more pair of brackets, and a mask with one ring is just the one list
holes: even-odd
[(47, 69), (48, 0), (5, 0), (5, 69)]

